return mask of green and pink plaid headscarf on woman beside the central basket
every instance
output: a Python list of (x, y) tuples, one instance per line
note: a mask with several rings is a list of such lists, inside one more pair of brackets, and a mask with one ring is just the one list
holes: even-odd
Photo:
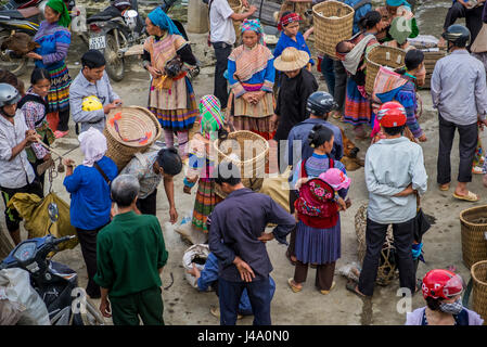
[(215, 140), (212, 134), (223, 126), (225, 116), (220, 110), (220, 101), (215, 95), (205, 95), (200, 100), (200, 132), (205, 139)]

